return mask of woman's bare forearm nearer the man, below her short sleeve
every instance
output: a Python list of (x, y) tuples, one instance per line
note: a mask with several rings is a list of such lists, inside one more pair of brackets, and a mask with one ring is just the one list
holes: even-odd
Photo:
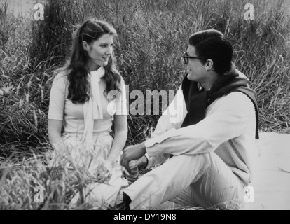
[(125, 143), (127, 141), (127, 116), (125, 115), (115, 115), (114, 116), (114, 128), (115, 137), (113, 140), (113, 146), (111, 153), (108, 156), (108, 160), (115, 162), (123, 150)]

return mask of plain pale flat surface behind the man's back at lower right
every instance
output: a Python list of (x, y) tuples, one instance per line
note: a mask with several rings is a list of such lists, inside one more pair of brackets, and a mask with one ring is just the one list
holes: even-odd
[(254, 203), (248, 210), (290, 210), (290, 134), (261, 133), (256, 141)]

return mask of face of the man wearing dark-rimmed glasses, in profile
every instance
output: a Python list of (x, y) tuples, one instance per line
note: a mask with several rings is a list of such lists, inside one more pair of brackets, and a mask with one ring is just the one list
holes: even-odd
[[(195, 52), (195, 47), (192, 45), (188, 46), (186, 52), (190, 57), (198, 57)], [(186, 68), (188, 69), (188, 80), (195, 81), (197, 83), (204, 83), (204, 80), (207, 79), (205, 64), (202, 64), (200, 59), (189, 58)]]

